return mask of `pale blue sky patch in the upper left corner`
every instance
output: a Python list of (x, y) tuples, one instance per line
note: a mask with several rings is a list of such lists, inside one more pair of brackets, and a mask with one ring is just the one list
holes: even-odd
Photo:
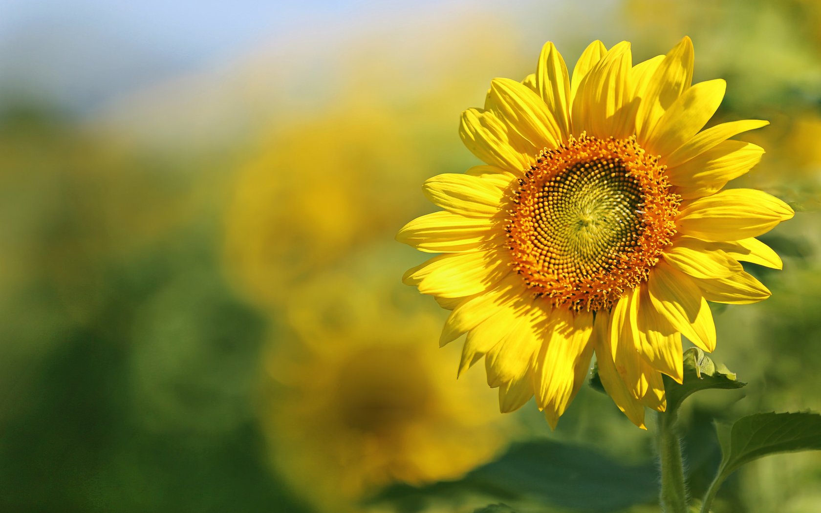
[(0, 87), (85, 111), (294, 30), (424, 2), (0, 0)]

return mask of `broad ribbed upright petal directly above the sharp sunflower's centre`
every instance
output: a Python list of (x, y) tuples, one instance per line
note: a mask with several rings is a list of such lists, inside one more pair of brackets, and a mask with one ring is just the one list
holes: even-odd
[(633, 133), (635, 107), (631, 84), (630, 43), (617, 44), (588, 72), (573, 104), (575, 131), (599, 137), (626, 137)]

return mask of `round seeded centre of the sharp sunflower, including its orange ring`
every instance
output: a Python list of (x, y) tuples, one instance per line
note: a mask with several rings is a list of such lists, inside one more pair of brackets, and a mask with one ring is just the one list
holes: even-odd
[(512, 265), (535, 296), (609, 309), (647, 280), (676, 233), (681, 197), (635, 136), (572, 136), (544, 149), (511, 191)]

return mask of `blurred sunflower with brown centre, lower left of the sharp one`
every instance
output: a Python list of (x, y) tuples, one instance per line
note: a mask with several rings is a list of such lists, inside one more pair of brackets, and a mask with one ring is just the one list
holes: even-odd
[(297, 343), (278, 340), (265, 360), (274, 467), (320, 511), (360, 511), (390, 483), (459, 477), (511, 431), (486, 415), (493, 397), (478, 382), (455, 387), (424, 344), (438, 316), (362, 282), (326, 273), (300, 286), (287, 309)]

